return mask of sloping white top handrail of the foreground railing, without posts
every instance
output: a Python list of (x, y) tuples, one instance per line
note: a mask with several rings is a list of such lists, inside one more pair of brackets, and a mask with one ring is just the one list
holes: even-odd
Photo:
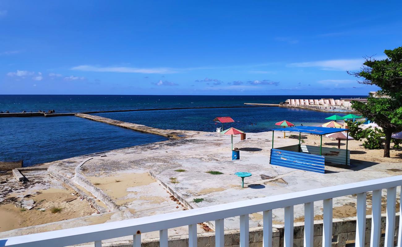
[(297, 204), (392, 188), (401, 185), (402, 176), (379, 178), (351, 184), (342, 184), (207, 206), (180, 212), (171, 212), (98, 225), (10, 237), (0, 239), (0, 246), (33, 247), (76, 245), (80, 243), (125, 237), (138, 233), (147, 233), (174, 227), (193, 225), (205, 221), (230, 218), (277, 208), (285, 208)]

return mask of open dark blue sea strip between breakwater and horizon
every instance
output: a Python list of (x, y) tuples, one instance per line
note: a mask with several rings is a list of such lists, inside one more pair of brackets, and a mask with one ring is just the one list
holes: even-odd
[(190, 96), (190, 95), (0, 95), (0, 111), (55, 110), (86, 112), (98, 110), (125, 110), (200, 106), (243, 106), (243, 103), (278, 104), (288, 98), (350, 98), (364, 96), (279, 95), (279, 96)]

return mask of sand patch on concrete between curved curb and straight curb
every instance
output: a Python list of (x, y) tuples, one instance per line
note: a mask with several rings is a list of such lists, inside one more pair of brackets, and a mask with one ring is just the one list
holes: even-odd
[(132, 202), (134, 198), (127, 198), (129, 194), (137, 192), (129, 192), (128, 188), (144, 186), (156, 182), (148, 173), (120, 173), (109, 175), (107, 177), (88, 177), (94, 186), (100, 188), (113, 198), (118, 205)]

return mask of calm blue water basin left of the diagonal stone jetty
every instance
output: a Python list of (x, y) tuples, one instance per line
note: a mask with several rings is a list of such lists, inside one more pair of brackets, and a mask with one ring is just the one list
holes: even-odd
[(76, 116), (0, 118), (0, 161), (24, 166), (166, 140)]

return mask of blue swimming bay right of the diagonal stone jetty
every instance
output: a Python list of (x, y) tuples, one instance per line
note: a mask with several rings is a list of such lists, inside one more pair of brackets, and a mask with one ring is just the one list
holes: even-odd
[(295, 125), (319, 125), (320, 123), (328, 122), (324, 118), (333, 115), (333, 113), (298, 108), (258, 107), (105, 112), (93, 115), (159, 129), (194, 131), (215, 131), (217, 127), (222, 127), (222, 124), (215, 123), (213, 119), (217, 116), (230, 116), (235, 122), (224, 124), (225, 129), (235, 127), (242, 131), (255, 133), (279, 128), (275, 123), (281, 120), (288, 120)]

